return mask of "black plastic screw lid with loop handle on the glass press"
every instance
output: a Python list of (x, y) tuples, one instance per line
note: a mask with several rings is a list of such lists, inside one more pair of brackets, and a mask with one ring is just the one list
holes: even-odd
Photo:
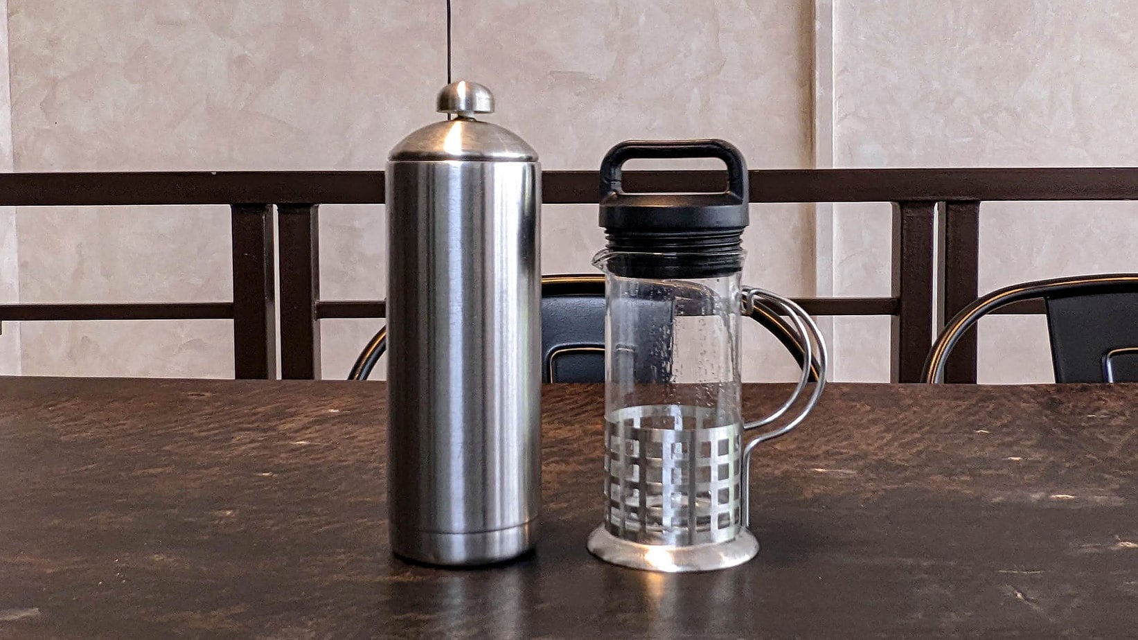
[[(719, 158), (727, 190), (626, 194), (620, 167), (633, 158)], [(712, 278), (742, 269), (749, 222), (747, 161), (724, 140), (628, 140), (601, 162), (600, 223), (615, 255), (609, 270), (633, 278)]]

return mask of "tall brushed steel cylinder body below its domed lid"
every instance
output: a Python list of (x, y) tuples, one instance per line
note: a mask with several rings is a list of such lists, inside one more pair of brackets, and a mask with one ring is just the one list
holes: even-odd
[(534, 545), (539, 190), (537, 162), (387, 165), (388, 491), (399, 556), (478, 565)]

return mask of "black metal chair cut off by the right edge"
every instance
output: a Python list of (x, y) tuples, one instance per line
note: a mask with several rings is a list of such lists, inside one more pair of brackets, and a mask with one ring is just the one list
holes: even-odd
[(980, 318), (1039, 298), (1047, 307), (1056, 383), (1138, 381), (1138, 273), (1073, 276), (992, 292), (945, 327), (925, 360), (922, 380), (943, 380), (949, 353)]

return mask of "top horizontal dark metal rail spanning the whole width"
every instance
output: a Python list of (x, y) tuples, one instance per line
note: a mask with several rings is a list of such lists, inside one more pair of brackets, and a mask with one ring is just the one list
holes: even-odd
[[(628, 171), (628, 189), (701, 191), (719, 171)], [(1138, 167), (761, 169), (752, 203), (1132, 200)], [(597, 200), (596, 171), (545, 171), (545, 204)], [(379, 204), (382, 171), (0, 174), (0, 206)]]

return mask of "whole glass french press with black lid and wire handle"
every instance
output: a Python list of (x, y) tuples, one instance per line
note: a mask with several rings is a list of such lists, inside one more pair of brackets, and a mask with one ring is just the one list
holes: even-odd
[[(628, 194), (632, 158), (719, 158), (727, 189), (717, 194)], [(743, 287), (742, 233), (748, 175), (723, 140), (640, 141), (613, 147), (601, 164), (605, 273), (604, 520), (588, 550), (617, 565), (661, 572), (710, 571), (754, 557), (747, 530), (749, 461), (754, 446), (797, 426), (825, 385), (826, 350), (794, 302)], [(802, 376), (774, 413), (744, 422), (740, 318), (756, 306), (785, 315), (802, 345)], [(743, 442), (744, 432), (783, 418)]]

